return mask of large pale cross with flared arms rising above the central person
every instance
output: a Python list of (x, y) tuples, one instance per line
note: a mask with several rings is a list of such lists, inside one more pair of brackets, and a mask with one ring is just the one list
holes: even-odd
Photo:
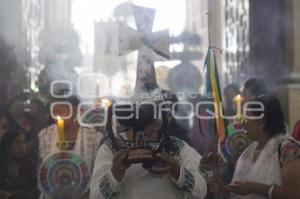
[(162, 30), (152, 33), (155, 10), (132, 6), (137, 30), (120, 25), (119, 54), (138, 50), (136, 88), (145, 84), (156, 85), (154, 54), (169, 58), (169, 32)]

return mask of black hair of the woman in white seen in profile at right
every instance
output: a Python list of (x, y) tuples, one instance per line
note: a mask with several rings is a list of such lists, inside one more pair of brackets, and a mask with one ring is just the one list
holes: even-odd
[[(269, 137), (285, 133), (286, 124), (284, 114), (280, 105), (279, 100), (272, 95), (261, 95), (255, 97), (250, 102), (260, 102), (263, 105), (263, 111), (253, 111), (252, 114), (259, 116), (261, 113), (264, 114), (264, 130)], [(258, 104), (250, 104), (249, 108), (258, 108)]]

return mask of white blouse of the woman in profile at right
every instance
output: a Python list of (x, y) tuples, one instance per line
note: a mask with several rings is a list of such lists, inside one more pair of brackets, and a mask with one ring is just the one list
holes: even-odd
[[(282, 185), (281, 166), (278, 154), (278, 148), (284, 147), (288, 140), (292, 139), (289, 135), (278, 135), (271, 138), (261, 150), (257, 160), (253, 163), (253, 156), (258, 143), (253, 142), (241, 154), (233, 175), (232, 183), (235, 181), (251, 181), (271, 185), (273, 183)], [(251, 194), (240, 196), (231, 194), (230, 199), (267, 199), (261, 195)]]

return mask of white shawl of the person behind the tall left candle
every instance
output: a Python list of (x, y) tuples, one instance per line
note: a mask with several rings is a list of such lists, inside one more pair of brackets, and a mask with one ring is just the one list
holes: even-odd
[[(80, 127), (78, 130), (77, 140), (74, 149), (71, 152), (76, 153), (86, 161), (90, 173), (92, 173), (95, 158), (102, 139), (102, 133), (97, 132), (93, 128)], [(39, 155), (42, 161), (49, 155), (60, 151), (57, 147), (57, 142), (58, 132), (56, 124), (41, 130), (39, 133)], [(42, 193), (40, 199), (41, 198), (47, 197)]]

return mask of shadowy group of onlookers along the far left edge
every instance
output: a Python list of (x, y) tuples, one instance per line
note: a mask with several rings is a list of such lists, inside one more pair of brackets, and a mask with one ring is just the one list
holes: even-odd
[[(0, 113), (0, 198), (38, 198), (38, 134), (51, 123), (41, 100), (16, 96)], [(26, 109), (27, 108), (27, 109)], [(27, 110), (27, 111), (25, 111)]]

